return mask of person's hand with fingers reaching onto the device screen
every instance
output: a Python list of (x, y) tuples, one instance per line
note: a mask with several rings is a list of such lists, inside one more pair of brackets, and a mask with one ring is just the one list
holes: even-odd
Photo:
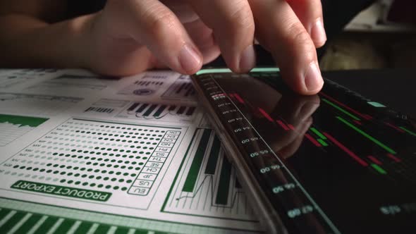
[(87, 27), (85, 61), (106, 75), (161, 66), (192, 74), (221, 51), (244, 73), (255, 66), (256, 37), (293, 90), (314, 94), (323, 85), (315, 50), (326, 41), (322, 22), (319, 0), (109, 0)]

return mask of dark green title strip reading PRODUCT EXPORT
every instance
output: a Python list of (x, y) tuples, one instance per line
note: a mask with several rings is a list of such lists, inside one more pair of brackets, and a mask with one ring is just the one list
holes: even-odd
[(106, 202), (111, 197), (110, 192), (84, 190), (81, 188), (64, 187), (59, 185), (48, 185), (44, 183), (36, 183), (25, 180), (18, 180), (16, 183), (11, 185), (11, 188), (14, 188), (16, 190), (25, 190), (29, 192), (46, 193), (49, 195), (87, 199), (98, 202)]

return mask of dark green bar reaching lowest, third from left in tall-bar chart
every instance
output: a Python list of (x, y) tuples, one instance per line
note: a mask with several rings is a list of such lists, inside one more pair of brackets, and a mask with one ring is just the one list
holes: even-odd
[(228, 202), (228, 191), (231, 180), (231, 164), (224, 157), (221, 166), (221, 176), (219, 177), (218, 191), (216, 192), (216, 204), (226, 205)]

